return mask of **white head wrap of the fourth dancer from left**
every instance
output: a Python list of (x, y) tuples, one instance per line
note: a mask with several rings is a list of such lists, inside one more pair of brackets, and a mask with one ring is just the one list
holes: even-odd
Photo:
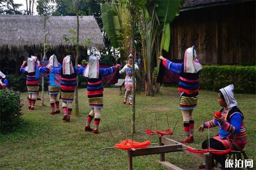
[(84, 71), (84, 77), (89, 79), (99, 78), (99, 58), (95, 55), (89, 57), (89, 62)]

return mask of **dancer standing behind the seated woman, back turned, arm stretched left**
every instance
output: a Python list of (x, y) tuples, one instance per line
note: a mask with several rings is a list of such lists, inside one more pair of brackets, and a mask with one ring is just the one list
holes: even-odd
[(160, 56), (163, 65), (180, 74), (178, 91), (180, 91), (180, 110), (183, 114), (183, 128), (187, 136), (181, 143), (191, 143), (194, 141), (194, 119), (192, 112), (196, 108), (199, 90), (199, 71), (202, 65), (196, 58), (197, 54), (194, 46), (186, 49), (183, 63), (174, 63)]

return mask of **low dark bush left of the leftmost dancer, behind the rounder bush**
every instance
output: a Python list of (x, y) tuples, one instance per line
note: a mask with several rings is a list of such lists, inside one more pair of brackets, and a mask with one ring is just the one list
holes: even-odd
[[(19, 79), (20, 78), (20, 79)], [(9, 82), (9, 88), (14, 91), (25, 92), (26, 89), (26, 74), (20, 75), (9, 74), (6, 75), (6, 79)]]

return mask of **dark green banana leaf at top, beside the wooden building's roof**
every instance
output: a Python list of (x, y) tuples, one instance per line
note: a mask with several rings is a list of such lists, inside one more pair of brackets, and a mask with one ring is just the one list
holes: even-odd
[(171, 23), (175, 18), (180, 5), (180, 0), (159, 0), (157, 7), (157, 16), (160, 22), (165, 22), (166, 11), (166, 23)]

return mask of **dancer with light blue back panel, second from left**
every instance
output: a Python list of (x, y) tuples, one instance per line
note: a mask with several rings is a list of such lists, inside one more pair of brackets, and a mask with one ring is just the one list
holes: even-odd
[[(61, 64), (58, 62), (58, 59), (55, 55), (52, 55), (49, 58), (49, 64), (46, 67), (41, 67), (40, 62), (38, 61), (38, 69), (42, 73), (47, 73), (47, 82), (48, 82), (48, 94), (50, 97), (51, 105), (51, 114), (60, 113), (58, 93), (60, 91), (61, 85), (61, 76), (59, 74), (54, 74), (49, 72), (50, 67), (61, 67)], [(56, 107), (55, 107), (56, 105)]]

